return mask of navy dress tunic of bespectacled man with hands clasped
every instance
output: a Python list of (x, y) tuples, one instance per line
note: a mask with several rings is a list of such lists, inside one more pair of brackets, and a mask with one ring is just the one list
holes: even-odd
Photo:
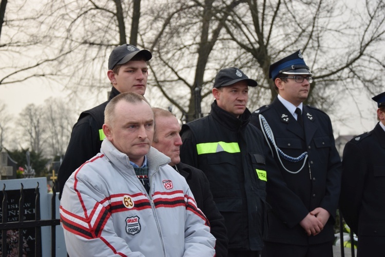
[[(268, 213), (267, 241), (307, 246), (334, 240), (333, 224), (340, 192), (341, 161), (335, 148), (329, 116), (303, 105), (303, 129), (278, 98), (271, 105), (253, 113), (251, 123), (261, 129), (259, 115), (265, 117), (275, 144), (283, 153), (297, 157), (307, 151), (309, 155), (300, 170), (304, 159), (290, 162), (280, 157), (280, 161), (276, 148), (272, 146), (279, 170), (269, 170), (267, 167), (267, 202), (272, 206), (272, 212)], [(292, 172), (300, 171), (293, 174), (283, 166)], [(307, 236), (299, 223), (317, 207), (329, 211), (330, 219), (319, 234)]]

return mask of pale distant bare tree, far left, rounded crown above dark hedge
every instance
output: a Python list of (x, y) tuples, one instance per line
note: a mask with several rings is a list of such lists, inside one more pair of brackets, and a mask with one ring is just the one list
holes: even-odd
[(17, 121), (17, 124), (22, 131), (22, 141), (20, 144), (23, 145), (24, 142), (28, 142), (30, 150), (36, 153), (43, 153), (47, 140), (43, 109), (34, 104), (29, 104), (19, 116), (20, 119)]

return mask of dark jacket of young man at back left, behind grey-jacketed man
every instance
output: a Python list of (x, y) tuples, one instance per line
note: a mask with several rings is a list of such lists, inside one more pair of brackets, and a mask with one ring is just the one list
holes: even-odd
[(120, 92), (112, 87), (108, 101), (80, 114), (78, 122), (73, 125), (63, 162), (57, 174), (59, 184), (59, 199), (62, 197), (64, 184), (68, 177), (83, 163), (100, 152), (104, 133), (104, 109), (108, 102)]

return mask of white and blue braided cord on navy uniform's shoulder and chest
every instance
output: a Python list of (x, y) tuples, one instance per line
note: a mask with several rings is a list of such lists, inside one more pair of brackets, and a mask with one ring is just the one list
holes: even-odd
[[(273, 157), (274, 157), (274, 151), (272, 149), (272, 145), (274, 146), (274, 149), (275, 149), (275, 152), (277, 153), (277, 156), (278, 156), (278, 160), (279, 162), (281, 163), (282, 167), (289, 173), (292, 173), (292, 174), (297, 174), (298, 172), (300, 172), (303, 167), (305, 166), (305, 163), (306, 163), (306, 160), (307, 160), (307, 152), (303, 152), (301, 155), (299, 155), (298, 157), (292, 157), (292, 156), (288, 156), (287, 154), (285, 154), (284, 152), (282, 152), (281, 149), (278, 148), (277, 144), (275, 143), (275, 140), (274, 140), (274, 134), (273, 134), (273, 131), (272, 129), (270, 128), (270, 126), (268, 125), (265, 117), (263, 117), (262, 114), (259, 114), (259, 124), (261, 126), (262, 129), (262, 133), (263, 135), (265, 136), (265, 139), (266, 139), (266, 142), (268, 144), (268, 147), (270, 147), (270, 150), (272, 151), (273, 153)], [(297, 171), (291, 171), (291, 170), (288, 170), (286, 169), (286, 167), (283, 165), (282, 161), (281, 161), (281, 157), (283, 159), (285, 159), (286, 161), (289, 161), (289, 162), (292, 162), (292, 163), (298, 163), (300, 161), (303, 160), (303, 164), (302, 164), (302, 167), (297, 170)]]

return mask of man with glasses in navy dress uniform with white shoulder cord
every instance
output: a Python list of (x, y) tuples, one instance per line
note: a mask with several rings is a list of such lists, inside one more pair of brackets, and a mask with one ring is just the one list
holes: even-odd
[[(253, 113), (279, 170), (268, 171), (268, 238), (262, 256), (329, 257), (341, 161), (329, 116), (302, 104), (313, 78), (297, 51), (269, 67), (278, 96)], [(297, 110), (298, 109), (298, 110)], [(267, 167), (268, 169), (268, 167)]]

